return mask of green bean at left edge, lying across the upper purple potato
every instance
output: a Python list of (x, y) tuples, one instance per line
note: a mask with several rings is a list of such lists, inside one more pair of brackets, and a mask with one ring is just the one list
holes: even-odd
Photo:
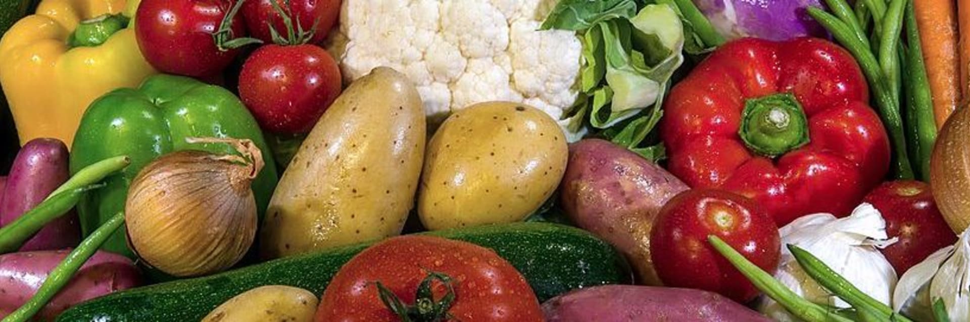
[(16, 251), (37, 234), (44, 225), (74, 208), (85, 192), (98, 188), (92, 185), (51, 195), (43, 203), (0, 228), (0, 254)]

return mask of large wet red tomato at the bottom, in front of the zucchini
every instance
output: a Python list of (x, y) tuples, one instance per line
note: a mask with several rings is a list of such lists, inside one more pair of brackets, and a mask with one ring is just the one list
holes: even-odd
[[(315, 321), (400, 321), (381, 303), (374, 282), (413, 305), (426, 270), (452, 277), (457, 298), (449, 312), (456, 320), (542, 321), (529, 283), (498, 254), (469, 242), (429, 236), (392, 238), (354, 256), (327, 285)], [(433, 285), (438, 300), (445, 288)]]

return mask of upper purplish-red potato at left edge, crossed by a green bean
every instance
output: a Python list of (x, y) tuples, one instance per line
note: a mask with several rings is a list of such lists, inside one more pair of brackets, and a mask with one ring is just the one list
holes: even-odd
[[(67, 146), (55, 139), (34, 139), (16, 154), (6, 195), (0, 200), (0, 226), (36, 207), (70, 177)], [(81, 242), (78, 215), (73, 211), (49, 222), (20, 251), (54, 250)]]

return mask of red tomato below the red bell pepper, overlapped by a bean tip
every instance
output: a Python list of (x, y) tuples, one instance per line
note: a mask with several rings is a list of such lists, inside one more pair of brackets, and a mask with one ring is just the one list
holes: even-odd
[(711, 235), (765, 272), (778, 269), (781, 237), (771, 216), (743, 196), (694, 189), (663, 206), (650, 233), (651, 258), (663, 285), (711, 291), (738, 303), (753, 300), (758, 289), (710, 245)]

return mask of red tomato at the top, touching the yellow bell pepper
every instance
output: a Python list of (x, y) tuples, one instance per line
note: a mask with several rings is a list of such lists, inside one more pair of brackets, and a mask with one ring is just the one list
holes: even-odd
[[(221, 51), (212, 34), (232, 8), (229, 0), (144, 0), (135, 14), (135, 35), (148, 63), (168, 74), (211, 78), (239, 53)], [(242, 18), (232, 23), (233, 35), (245, 36)]]

